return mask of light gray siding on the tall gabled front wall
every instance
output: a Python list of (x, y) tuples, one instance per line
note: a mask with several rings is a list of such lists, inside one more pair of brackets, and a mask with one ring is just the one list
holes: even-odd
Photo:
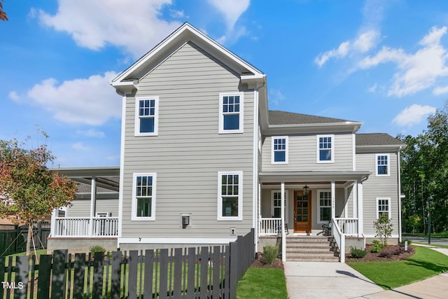
[[(218, 134), (219, 93), (244, 92), (244, 133)], [(127, 97), (122, 237), (231, 237), (252, 227), (253, 91), (238, 74), (186, 43), (139, 81), (135, 95), (159, 97), (158, 136), (134, 137)], [(243, 220), (217, 221), (218, 172), (243, 172)], [(157, 173), (155, 221), (132, 221), (132, 175)], [(190, 225), (181, 225), (190, 214)]]

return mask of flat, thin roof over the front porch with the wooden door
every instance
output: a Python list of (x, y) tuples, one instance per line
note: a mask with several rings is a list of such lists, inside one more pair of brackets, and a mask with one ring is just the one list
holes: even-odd
[(372, 174), (369, 171), (341, 172), (259, 172), (260, 183), (322, 182), (322, 181), (364, 181)]

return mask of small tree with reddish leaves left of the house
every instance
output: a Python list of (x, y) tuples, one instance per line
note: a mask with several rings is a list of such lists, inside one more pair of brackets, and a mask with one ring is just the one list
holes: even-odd
[[(45, 137), (48, 137), (43, 133)], [(28, 226), (27, 255), (31, 250), (33, 223), (53, 209), (70, 205), (76, 198), (76, 183), (55, 172), (47, 162), (54, 156), (44, 144), (25, 149), (17, 140), (0, 141), (0, 217)]]

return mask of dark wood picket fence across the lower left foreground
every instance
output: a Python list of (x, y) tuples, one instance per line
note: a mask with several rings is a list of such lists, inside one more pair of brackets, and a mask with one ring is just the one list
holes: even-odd
[(0, 258), (1, 298), (236, 298), (253, 229), (225, 246)]

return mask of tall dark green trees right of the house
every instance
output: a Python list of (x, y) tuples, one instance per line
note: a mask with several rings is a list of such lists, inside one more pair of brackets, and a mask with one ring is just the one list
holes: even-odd
[(417, 137), (398, 136), (407, 144), (402, 151), (402, 192), (405, 231), (428, 232), (428, 197), (435, 232), (448, 231), (448, 102), (428, 117)]

